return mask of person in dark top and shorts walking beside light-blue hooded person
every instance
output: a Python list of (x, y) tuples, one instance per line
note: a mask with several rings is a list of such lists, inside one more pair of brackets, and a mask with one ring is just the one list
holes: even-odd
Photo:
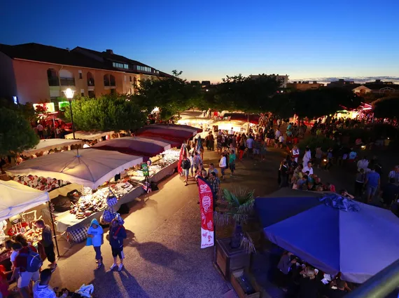
[(111, 245), (113, 264), (110, 270), (113, 270), (118, 266), (116, 263), (116, 258), (119, 257), (120, 263), (118, 266), (118, 271), (123, 269), (123, 259), (125, 255), (123, 253), (123, 239), (126, 239), (126, 229), (125, 226), (118, 222), (118, 219), (114, 218), (111, 222), (111, 229), (109, 230), (109, 244)]

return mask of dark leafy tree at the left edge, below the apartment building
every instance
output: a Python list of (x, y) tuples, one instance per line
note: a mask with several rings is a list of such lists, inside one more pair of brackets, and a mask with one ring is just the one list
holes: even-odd
[(38, 144), (38, 135), (18, 112), (6, 107), (0, 108), (0, 155), (15, 155)]

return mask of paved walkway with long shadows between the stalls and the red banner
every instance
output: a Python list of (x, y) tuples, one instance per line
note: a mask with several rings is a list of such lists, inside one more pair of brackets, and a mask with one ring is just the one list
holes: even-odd
[[(204, 157), (206, 165), (218, 163), (214, 152), (206, 151)], [(227, 175), (222, 186), (255, 189), (256, 196), (268, 194), (276, 189), (279, 161), (275, 151), (267, 154), (267, 161), (247, 158), (237, 163), (237, 176)], [(109, 271), (107, 241), (102, 246), (105, 267), (99, 270), (95, 270), (92, 247), (80, 243), (59, 259), (51, 284), (74, 290), (92, 283), (96, 297), (223, 297), (230, 287), (211, 263), (213, 249), (200, 249), (196, 184), (192, 181), (184, 187), (175, 174), (159, 187), (131, 203), (125, 218), (129, 232), (123, 271)], [(63, 241), (60, 245), (67, 246)]]

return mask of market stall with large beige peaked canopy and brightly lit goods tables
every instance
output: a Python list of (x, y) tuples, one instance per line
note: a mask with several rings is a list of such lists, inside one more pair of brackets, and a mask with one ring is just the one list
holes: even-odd
[[(148, 166), (147, 182), (158, 182), (173, 173), (178, 154), (168, 149), (154, 158)], [(29, 187), (50, 191), (57, 231), (71, 232), (83, 229), (93, 218), (100, 219), (109, 196), (116, 196), (113, 209), (118, 210), (143, 194), (146, 177), (142, 161), (141, 156), (117, 151), (83, 149), (78, 156), (75, 151), (65, 151), (29, 160), (11, 168), (8, 175)], [(48, 217), (48, 211), (44, 210), (44, 215)]]

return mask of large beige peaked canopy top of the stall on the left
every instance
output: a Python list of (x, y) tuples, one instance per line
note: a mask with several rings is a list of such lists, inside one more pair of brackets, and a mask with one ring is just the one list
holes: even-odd
[(143, 162), (141, 156), (96, 149), (63, 151), (24, 161), (8, 169), (8, 175), (50, 177), (97, 189), (123, 170)]

